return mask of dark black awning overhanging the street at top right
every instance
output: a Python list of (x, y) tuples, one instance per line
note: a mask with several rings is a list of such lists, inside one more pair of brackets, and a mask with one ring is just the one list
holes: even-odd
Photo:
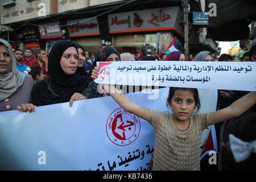
[[(195, 1), (193, 1), (195, 2)], [(191, 11), (198, 11), (205, 3), (208, 12), (209, 4), (215, 3), (217, 16), (209, 17), (208, 35), (219, 41), (234, 41), (248, 39), (249, 24), (256, 20), (255, 0), (201, 0), (198, 6), (192, 6)], [(191, 1), (192, 3), (192, 1)]]

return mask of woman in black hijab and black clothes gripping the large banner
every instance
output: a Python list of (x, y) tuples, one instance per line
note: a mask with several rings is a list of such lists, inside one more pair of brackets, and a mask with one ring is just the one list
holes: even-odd
[[(31, 102), (36, 106), (84, 100), (90, 96), (90, 76), (77, 73), (78, 51), (68, 40), (56, 42), (49, 52), (48, 72), (50, 77), (37, 82), (31, 92)], [(87, 96), (86, 96), (87, 94)], [(98, 94), (98, 97), (101, 95)]]

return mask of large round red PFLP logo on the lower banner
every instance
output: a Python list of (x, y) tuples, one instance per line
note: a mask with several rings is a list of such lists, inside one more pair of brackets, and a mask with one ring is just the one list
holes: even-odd
[(118, 108), (110, 114), (106, 124), (108, 138), (118, 146), (127, 146), (133, 143), (141, 131), (141, 122), (137, 115)]

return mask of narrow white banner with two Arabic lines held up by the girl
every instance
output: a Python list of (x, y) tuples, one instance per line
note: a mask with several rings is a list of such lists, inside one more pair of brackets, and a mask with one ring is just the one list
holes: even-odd
[(99, 62), (97, 83), (256, 90), (256, 63), (207, 61)]

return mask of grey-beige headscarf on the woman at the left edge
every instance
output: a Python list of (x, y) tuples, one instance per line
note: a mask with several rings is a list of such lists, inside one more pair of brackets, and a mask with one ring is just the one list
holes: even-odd
[(25, 74), (20, 73), (16, 69), (16, 61), (14, 59), (13, 48), (11, 45), (3, 39), (0, 39), (0, 44), (8, 48), (11, 57), (11, 69), (10, 72), (0, 74), (0, 101), (12, 96), (16, 90), (23, 84)]

